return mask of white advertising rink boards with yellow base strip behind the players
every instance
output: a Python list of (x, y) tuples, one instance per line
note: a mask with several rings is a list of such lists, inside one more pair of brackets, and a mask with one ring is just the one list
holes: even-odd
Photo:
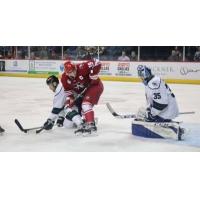
[[(80, 61), (76, 61), (80, 62)], [(4, 60), (0, 76), (44, 78), (63, 73), (61, 60)], [(138, 82), (137, 67), (145, 65), (169, 83), (200, 84), (199, 62), (119, 62), (102, 61), (100, 77), (106, 81)]]

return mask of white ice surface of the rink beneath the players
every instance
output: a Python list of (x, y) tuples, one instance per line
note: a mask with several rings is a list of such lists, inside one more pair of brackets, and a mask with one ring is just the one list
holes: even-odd
[(176, 95), (180, 115), (186, 129), (185, 139), (146, 139), (131, 134), (132, 119), (115, 119), (106, 102), (121, 114), (136, 113), (145, 105), (142, 83), (104, 81), (104, 93), (95, 107), (98, 136), (75, 136), (74, 129), (54, 127), (40, 134), (21, 132), (14, 119), (25, 128), (43, 125), (51, 109), (53, 93), (43, 78), (0, 77), (0, 125), (6, 130), (0, 136), (1, 152), (64, 151), (64, 152), (154, 152), (200, 151), (200, 85), (169, 84)]

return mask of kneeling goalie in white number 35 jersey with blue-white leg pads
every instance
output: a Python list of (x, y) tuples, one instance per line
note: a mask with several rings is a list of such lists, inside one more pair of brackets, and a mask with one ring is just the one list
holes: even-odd
[(184, 129), (172, 121), (179, 114), (174, 93), (151, 69), (139, 65), (138, 76), (145, 86), (146, 108), (140, 108), (132, 123), (132, 133), (148, 138), (174, 138), (181, 140)]

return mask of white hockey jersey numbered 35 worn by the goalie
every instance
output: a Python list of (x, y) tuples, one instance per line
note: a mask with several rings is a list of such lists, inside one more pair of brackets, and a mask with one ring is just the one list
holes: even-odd
[(158, 76), (154, 76), (145, 86), (147, 106), (151, 114), (164, 119), (174, 119), (179, 114), (175, 95), (168, 85)]

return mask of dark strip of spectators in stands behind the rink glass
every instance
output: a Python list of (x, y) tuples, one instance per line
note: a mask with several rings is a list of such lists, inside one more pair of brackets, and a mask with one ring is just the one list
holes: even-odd
[(200, 61), (200, 47), (0, 46), (0, 59), (87, 60), (91, 57), (108, 61)]

